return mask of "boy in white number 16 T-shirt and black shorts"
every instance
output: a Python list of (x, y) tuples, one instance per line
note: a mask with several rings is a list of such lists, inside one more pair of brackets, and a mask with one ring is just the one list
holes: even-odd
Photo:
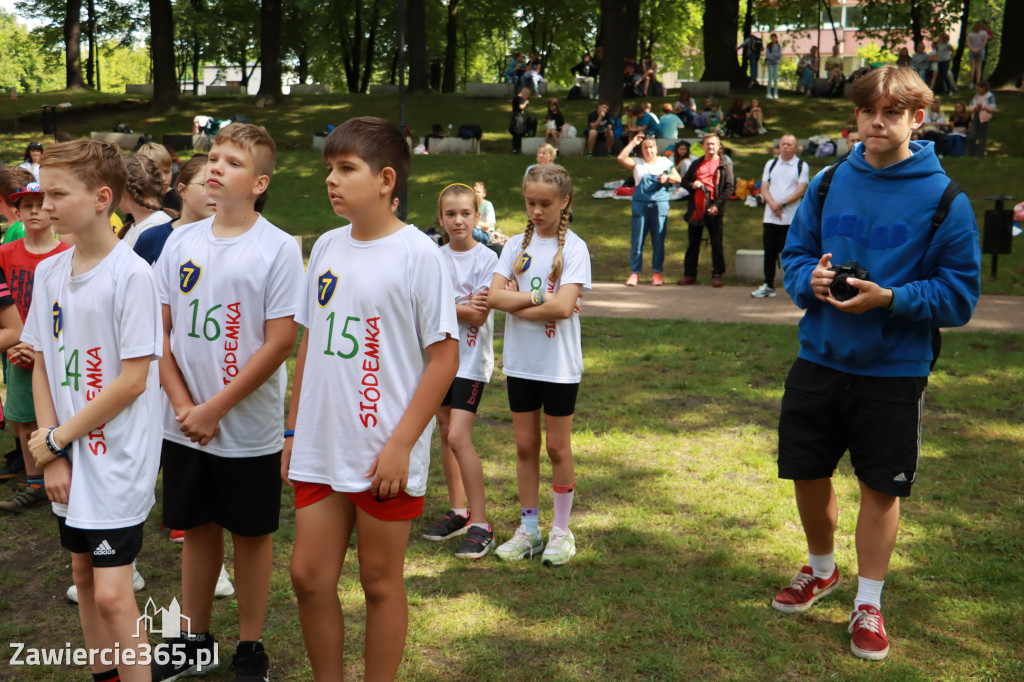
[[(184, 648), (214, 649), (213, 592), (223, 528), (234, 544), (238, 679), (264, 679), (260, 641), (281, 506), (284, 361), (295, 345), (302, 255), (254, 208), (273, 172), (266, 130), (231, 124), (213, 140), (206, 193), (217, 214), (175, 229), (157, 262), (164, 317), (164, 524), (185, 531)], [(154, 679), (189, 670), (168, 665)]]

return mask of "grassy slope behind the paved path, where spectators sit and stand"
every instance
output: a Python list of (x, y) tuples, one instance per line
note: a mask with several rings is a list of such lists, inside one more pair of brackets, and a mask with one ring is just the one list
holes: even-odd
[[(971, 93), (961, 91), (968, 100)], [(993, 207), (985, 198), (991, 195), (1011, 195), (1024, 199), (1024, 137), (1014, 132), (1024, 121), (1024, 94), (1018, 91), (996, 93), (999, 114), (990, 124), (989, 157), (978, 159), (952, 159), (943, 161), (949, 175), (967, 191), (975, 208), (979, 225), (984, 223), (984, 212)], [(762, 97), (763, 99), (763, 97)], [(346, 118), (376, 115), (397, 120), (397, 99), (389, 95), (325, 95), (291, 97), (274, 110), (258, 110), (251, 99), (243, 97), (185, 97), (178, 111), (157, 115), (144, 101), (104, 94), (89, 96), (84, 93), (45, 93), (23, 95), (17, 100), (22, 113), (22, 132), (0, 138), (0, 158), (7, 163), (19, 162), (25, 145), (39, 139), (38, 133), (25, 132), (28, 123), (25, 113), (38, 111), (42, 103), (69, 100), (72, 110), (60, 113), (61, 129), (75, 135), (87, 135), (92, 130), (112, 130), (118, 121), (124, 121), (136, 131), (145, 131), (158, 140), (164, 133), (191, 130), (196, 114), (230, 118), (242, 114), (254, 123), (266, 125), (279, 143), (278, 172), (270, 185), (270, 201), (265, 214), (284, 229), (306, 235), (305, 249), (312, 247), (315, 236), (339, 224), (331, 211), (324, 188), (325, 172), (319, 156), (311, 148), (312, 133), (323, 130), (329, 123), (340, 123)], [(654, 110), (672, 97), (652, 100)], [(532, 116), (543, 114), (545, 98), (535, 98)], [(566, 101), (562, 97), (566, 120), (579, 129), (585, 128), (586, 116), (593, 109), (590, 101)], [(766, 125), (771, 134), (726, 140), (733, 151), (737, 177), (760, 179), (765, 161), (770, 156), (772, 139), (783, 131), (800, 137), (825, 133), (838, 135), (852, 125), (852, 104), (845, 99), (807, 98), (801, 95), (783, 95), (782, 99), (763, 101)], [(945, 104), (950, 104), (946, 98)], [(0, 100), (0, 130), (11, 131), (12, 102)], [(521, 173), (534, 163), (531, 159), (509, 154), (508, 125), (509, 102), (504, 99), (466, 99), (462, 95), (429, 94), (410, 97), (408, 121), (417, 135), (425, 134), (431, 123), (447, 123), (456, 128), (463, 123), (478, 123), (484, 129), (480, 155), (418, 156), (413, 160), (413, 177), (409, 186), (409, 220), (426, 227), (434, 224), (437, 194), (446, 184), (461, 181), (472, 183), (483, 180), (487, 184), (488, 199), (495, 204), (499, 226), (507, 235), (522, 231), (525, 215), (520, 195)], [(35, 115), (38, 119), (38, 114)], [(38, 123), (35, 130), (39, 130)], [(686, 134), (686, 133), (684, 133)], [(830, 160), (809, 159), (812, 171), (823, 168)], [(591, 195), (608, 180), (628, 174), (613, 159), (564, 157), (560, 160), (572, 173), (577, 184), (573, 205), (575, 229), (587, 241), (593, 257), (595, 280), (623, 280), (629, 275), (630, 202), (594, 200)], [(1012, 205), (1012, 203), (1011, 203)], [(685, 225), (682, 220), (683, 203), (674, 205), (669, 218), (666, 274), (670, 280), (681, 276), (683, 252), (686, 247)], [(733, 202), (725, 218), (724, 247), (726, 263), (732, 269), (732, 254), (737, 249), (760, 249), (763, 209), (751, 209)], [(649, 254), (649, 247), (647, 249)], [(1001, 256), (998, 276), (990, 275), (990, 257), (984, 257), (983, 291), (986, 294), (1024, 293), (1024, 256), (1017, 253)], [(647, 258), (649, 259), (649, 255)], [(649, 263), (649, 260), (647, 261)], [(701, 254), (701, 274), (710, 275), (710, 254)], [(730, 273), (726, 284), (736, 284)]]

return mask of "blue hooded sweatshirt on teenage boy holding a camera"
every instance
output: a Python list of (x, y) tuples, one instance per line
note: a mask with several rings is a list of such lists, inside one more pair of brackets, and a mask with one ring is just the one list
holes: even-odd
[[(981, 293), (978, 225), (966, 195), (953, 200), (932, 235), (932, 216), (949, 179), (932, 142), (910, 142), (911, 156), (883, 169), (854, 147), (833, 176), (824, 206), (823, 174), (811, 180), (782, 251), (785, 290), (806, 312), (800, 357), (871, 377), (927, 377), (931, 331), (961, 327)], [(892, 289), (892, 310), (844, 312), (814, 296), (811, 272), (823, 254), (855, 260), (870, 280)]]

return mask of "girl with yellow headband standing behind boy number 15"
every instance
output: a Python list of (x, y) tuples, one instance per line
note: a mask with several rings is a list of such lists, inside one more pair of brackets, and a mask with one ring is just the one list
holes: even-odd
[(465, 535), (455, 553), (463, 559), (479, 559), (495, 541), (487, 523), (483, 467), (472, 440), (473, 419), (495, 368), (495, 316), (487, 307), (487, 288), (498, 265), (495, 252), (473, 239), (478, 202), (476, 193), (461, 183), (450, 184), (437, 198), (437, 219), (444, 228), (441, 255), (452, 276), (459, 318), (459, 372), (437, 410), (452, 508), (423, 537), (441, 542)]

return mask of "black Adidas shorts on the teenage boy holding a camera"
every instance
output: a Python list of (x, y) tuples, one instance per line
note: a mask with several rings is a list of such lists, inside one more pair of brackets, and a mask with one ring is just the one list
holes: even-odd
[(927, 377), (864, 377), (797, 358), (778, 421), (778, 476), (831, 477), (843, 454), (867, 487), (908, 497)]

